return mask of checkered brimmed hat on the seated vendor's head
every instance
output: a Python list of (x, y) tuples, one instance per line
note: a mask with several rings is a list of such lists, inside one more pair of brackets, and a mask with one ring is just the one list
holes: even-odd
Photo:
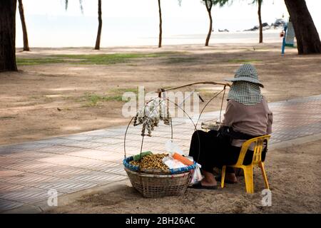
[(258, 71), (251, 64), (243, 64), (235, 72), (234, 78), (226, 78), (225, 81), (248, 81), (250, 83), (256, 83), (260, 87), (264, 88), (263, 84), (258, 80)]

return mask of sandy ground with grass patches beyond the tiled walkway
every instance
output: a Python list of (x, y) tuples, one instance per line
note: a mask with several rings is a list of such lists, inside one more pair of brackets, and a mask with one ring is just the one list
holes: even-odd
[[(34, 48), (17, 51), (19, 58), (55, 54), (161, 53), (159, 58), (136, 58), (113, 65), (51, 63), (19, 66), (19, 72), (0, 73), (0, 145), (79, 133), (108, 126), (125, 125), (121, 101), (87, 105), (86, 93), (103, 94), (118, 88), (145, 86), (146, 91), (179, 86), (195, 81), (223, 81), (243, 61), (252, 61), (265, 84), (268, 101), (321, 93), (321, 56), (298, 56), (287, 48), (280, 56), (280, 44), (227, 44), (155, 47)], [(217, 87), (198, 87), (205, 100)], [(190, 88), (192, 90), (192, 88)], [(208, 111), (218, 110), (219, 100)]]

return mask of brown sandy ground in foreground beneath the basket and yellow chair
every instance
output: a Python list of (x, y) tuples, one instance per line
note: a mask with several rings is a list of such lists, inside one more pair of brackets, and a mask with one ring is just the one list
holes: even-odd
[(160, 199), (143, 198), (131, 185), (118, 185), (83, 195), (49, 213), (320, 213), (320, 147), (318, 140), (269, 151), (265, 167), (272, 191), (270, 207), (261, 204), (264, 183), (255, 168), (253, 195), (245, 193), (243, 177), (224, 189), (188, 189), (183, 196)]

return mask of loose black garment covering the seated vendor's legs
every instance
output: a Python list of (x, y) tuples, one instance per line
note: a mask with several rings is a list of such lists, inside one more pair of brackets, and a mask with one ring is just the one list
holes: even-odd
[[(240, 147), (230, 145), (217, 137), (218, 131), (210, 130), (205, 132), (197, 130), (193, 133), (190, 141), (189, 155), (202, 165), (202, 170), (213, 172), (214, 167), (222, 168), (223, 165), (235, 165), (240, 155)], [(264, 156), (265, 157), (265, 156)], [(253, 151), (248, 150), (243, 164), (249, 165), (253, 160)], [(233, 172), (233, 169), (227, 169)]]

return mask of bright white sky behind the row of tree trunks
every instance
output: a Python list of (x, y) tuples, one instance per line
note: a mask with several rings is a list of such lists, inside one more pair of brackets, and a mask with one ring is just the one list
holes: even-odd
[[(93, 46), (98, 28), (97, 0), (23, 0), (29, 45), (32, 46)], [(251, 0), (234, 0), (230, 6), (212, 9), (214, 31), (243, 31), (258, 25), (257, 6)], [(321, 31), (320, 0), (306, 0), (312, 19)], [(208, 14), (200, 0), (161, 0), (164, 42), (190, 43), (208, 31)], [(101, 46), (153, 45), (158, 37), (157, 0), (102, 0), (103, 31)], [(263, 22), (288, 18), (283, 0), (265, 0)], [(222, 36), (222, 35), (221, 35)], [(196, 38), (198, 37), (198, 38)], [(215, 38), (215, 36), (213, 36)], [(224, 40), (224, 37), (221, 37)], [(203, 41), (203, 39), (202, 39)], [(19, 11), (16, 15), (16, 46), (22, 46)]]

